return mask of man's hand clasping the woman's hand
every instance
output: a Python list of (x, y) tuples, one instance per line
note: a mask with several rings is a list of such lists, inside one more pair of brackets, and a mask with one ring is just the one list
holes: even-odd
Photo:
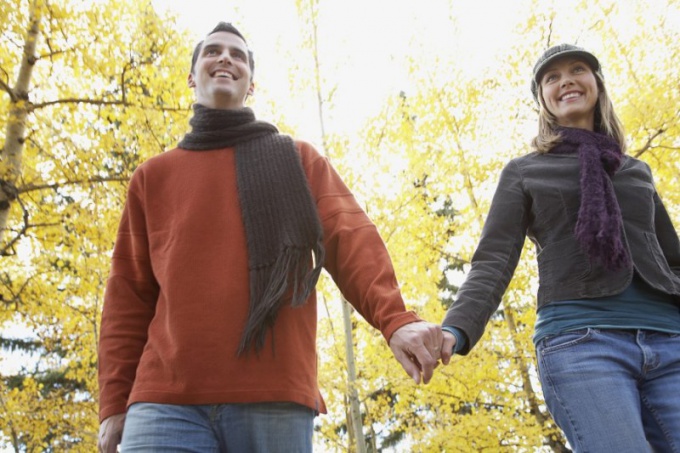
[(419, 321), (397, 329), (390, 338), (390, 349), (406, 373), (420, 384), (427, 384), (438, 365), (443, 335), (439, 324)]

